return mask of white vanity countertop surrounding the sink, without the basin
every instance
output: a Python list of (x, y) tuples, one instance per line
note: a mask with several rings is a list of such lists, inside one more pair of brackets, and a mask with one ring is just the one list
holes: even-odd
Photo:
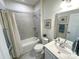
[(77, 56), (73, 52), (71, 54), (65, 54), (62, 52), (59, 53), (59, 49), (57, 49), (55, 41), (46, 44), (45, 48), (47, 48), (50, 53), (54, 54), (58, 59), (79, 59), (79, 56)]

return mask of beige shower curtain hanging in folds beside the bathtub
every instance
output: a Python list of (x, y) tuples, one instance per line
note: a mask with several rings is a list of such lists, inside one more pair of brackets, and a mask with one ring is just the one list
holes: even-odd
[(7, 45), (12, 45), (10, 53), (13, 57), (19, 57), (21, 55), (21, 43), (20, 36), (15, 22), (15, 15), (12, 11), (1, 10), (2, 25), (4, 27), (4, 34), (6, 37)]

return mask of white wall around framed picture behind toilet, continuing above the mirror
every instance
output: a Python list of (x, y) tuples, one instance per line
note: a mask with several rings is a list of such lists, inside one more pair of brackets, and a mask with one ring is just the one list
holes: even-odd
[[(42, 1), (42, 14), (43, 14), (43, 33), (46, 33), (50, 41), (54, 38), (54, 22), (56, 13), (65, 12), (73, 9), (77, 9), (79, 6), (78, 0), (72, 0), (71, 3), (62, 2), (61, 0), (43, 0)], [(52, 19), (52, 28), (44, 28), (44, 19)]]

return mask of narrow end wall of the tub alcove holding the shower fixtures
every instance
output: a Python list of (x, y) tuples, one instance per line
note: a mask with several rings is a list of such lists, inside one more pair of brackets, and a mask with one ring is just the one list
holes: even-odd
[(37, 3), (34, 7), (34, 31), (35, 31), (35, 36), (37, 36), (38, 38), (41, 37), (41, 32), (40, 32), (40, 2)]

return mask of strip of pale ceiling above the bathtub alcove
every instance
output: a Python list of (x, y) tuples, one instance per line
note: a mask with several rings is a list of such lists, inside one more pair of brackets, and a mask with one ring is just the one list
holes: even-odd
[(18, 2), (18, 3), (23, 3), (27, 5), (34, 6), (36, 5), (40, 0), (6, 0), (6, 1), (13, 1), (13, 2)]

